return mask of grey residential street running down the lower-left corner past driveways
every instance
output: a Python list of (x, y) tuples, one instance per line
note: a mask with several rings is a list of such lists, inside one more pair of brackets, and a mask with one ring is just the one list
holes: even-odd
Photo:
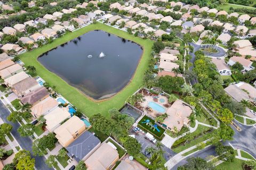
[[(5, 105), (0, 101), (0, 117), (2, 118), (2, 120), (5, 123), (9, 123), (13, 126), (12, 128), (12, 134), (14, 135), (15, 139), (19, 142), (20, 146), (23, 149), (29, 150), (31, 151), (31, 146), (32, 146), (32, 141), (29, 138), (23, 138), (20, 137), (19, 133), (17, 132), (17, 129), (19, 128), (19, 124), (18, 123), (12, 123), (7, 121), (7, 116), (10, 114), (10, 112), (8, 111), (8, 109), (5, 107)], [(46, 164), (45, 164), (45, 158), (44, 157), (39, 157), (39, 156), (32, 156), (35, 158), (36, 160), (36, 164), (35, 167), (37, 168), (37, 170), (47, 170), (50, 169)]]

